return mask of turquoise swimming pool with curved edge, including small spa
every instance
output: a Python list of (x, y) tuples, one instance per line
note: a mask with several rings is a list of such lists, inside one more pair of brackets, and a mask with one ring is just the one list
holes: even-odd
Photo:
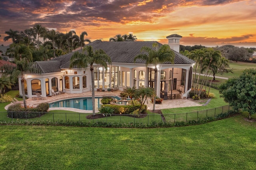
[[(120, 100), (121, 98), (118, 96), (109, 96), (114, 99)], [(102, 97), (95, 97), (95, 109), (100, 109)], [(56, 101), (54, 103), (49, 103), (50, 108), (52, 107), (70, 107), (75, 109), (89, 110), (92, 111), (92, 97), (80, 97), (80, 98), (72, 98), (61, 101)]]

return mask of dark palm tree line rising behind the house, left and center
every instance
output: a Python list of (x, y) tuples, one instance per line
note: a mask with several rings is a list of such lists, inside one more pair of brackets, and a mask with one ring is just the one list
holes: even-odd
[[(32, 62), (44, 61), (52, 57), (70, 53), (79, 47), (82, 49), (86, 43), (91, 42), (91, 40), (86, 38), (86, 36), (88, 36), (86, 31), (79, 35), (76, 34), (74, 30), (62, 33), (54, 29), (49, 30), (39, 24), (21, 32), (10, 29), (6, 31), (5, 34), (7, 36), (3, 38), (4, 41), (12, 40), (10, 48), (6, 51), (6, 55), (8, 55), (12, 61), (14, 61), (14, 59), (19, 60), (20, 57), (23, 58), (24, 56), (27, 56)], [(109, 41), (136, 40), (137, 38), (133, 34), (125, 34), (123, 36), (118, 34), (109, 39)]]

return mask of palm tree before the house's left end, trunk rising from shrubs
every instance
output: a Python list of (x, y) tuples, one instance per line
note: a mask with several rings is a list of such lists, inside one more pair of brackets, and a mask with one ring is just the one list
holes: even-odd
[(10, 75), (10, 79), (12, 81), (17, 81), (20, 78), (21, 81), (21, 91), (22, 91), (22, 99), (24, 103), (24, 107), (27, 107), (26, 104), (26, 96), (25, 96), (25, 88), (24, 88), (24, 73), (40, 73), (38, 70), (34, 69), (33, 63), (30, 62), (26, 57), (21, 60), (16, 60), (16, 66), (14, 65), (3, 65), (2, 69), (4, 69), (4, 76)]

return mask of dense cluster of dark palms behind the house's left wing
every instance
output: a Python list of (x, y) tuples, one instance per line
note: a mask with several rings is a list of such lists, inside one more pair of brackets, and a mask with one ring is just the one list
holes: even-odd
[[(57, 30), (48, 30), (40, 24), (36, 24), (33, 26), (33, 28), (25, 29), (21, 32), (10, 29), (6, 31), (5, 34), (7, 34), (7, 36), (4, 37), (4, 41), (8, 41), (10, 39), (12, 40), (12, 47), (10, 47), (7, 54), (9, 57), (14, 57), (14, 49), (16, 45), (23, 44), (30, 48), (33, 55), (37, 55), (33, 56), (33, 58), (36, 58), (36, 61), (40, 58), (48, 59), (50, 57), (56, 57), (64, 53), (69, 53), (78, 47), (82, 48), (85, 45), (85, 42), (91, 42), (89, 39), (84, 38), (85, 35), (87, 36), (85, 31), (79, 36), (76, 35), (76, 32), (73, 30), (70, 30), (64, 34), (58, 32)], [(40, 39), (41, 41), (43, 40), (43, 43), (40, 41)], [(49, 51), (51, 51), (51, 53), (53, 52), (53, 55), (48, 55), (48, 57), (39, 57), (38, 54), (40, 52), (38, 51), (42, 52), (42, 46), (46, 49), (48, 54)]]

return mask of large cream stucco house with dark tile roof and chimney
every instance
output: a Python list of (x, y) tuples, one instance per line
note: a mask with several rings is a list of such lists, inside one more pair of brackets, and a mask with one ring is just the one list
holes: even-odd
[[(173, 34), (166, 38), (168, 45), (174, 50), (175, 59), (174, 64), (166, 62), (158, 65), (159, 84), (156, 93), (160, 97), (162, 91), (168, 92), (168, 99), (176, 99), (174, 96), (179, 94), (179, 98), (183, 99), (188, 97), (191, 90), (195, 61), (179, 53), (182, 36)], [(74, 52), (50, 61), (36, 61), (34, 64), (40, 69), (41, 74), (25, 75), (25, 93), (30, 98), (35, 97), (36, 93), (40, 93), (43, 97), (52, 95), (52, 89), (64, 93), (83, 93), (91, 90), (122, 91), (127, 87), (154, 87), (154, 65), (146, 67), (145, 61), (142, 60), (134, 63), (134, 57), (140, 53), (141, 47), (152, 48), (153, 43), (154, 41), (101, 42), (99, 40), (89, 43), (88, 45), (92, 45), (94, 50), (103, 49), (112, 60), (107, 70), (100, 65), (94, 65), (94, 87), (91, 87), (90, 67), (69, 68), (70, 57)], [(22, 95), (21, 90), (20, 95)]]

